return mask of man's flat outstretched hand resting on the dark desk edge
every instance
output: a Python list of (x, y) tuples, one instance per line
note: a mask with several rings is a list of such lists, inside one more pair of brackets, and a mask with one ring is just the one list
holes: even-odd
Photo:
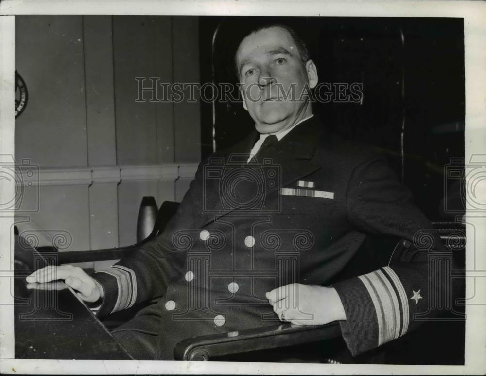
[(85, 302), (96, 302), (103, 298), (103, 287), (87, 275), (83, 269), (73, 267), (72, 265), (64, 266), (48, 266), (29, 275), (27, 280), (27, 288), (29, 289), (44, 289), (44, 290), (62, 290), (63, 284), (57, 280), (64, 280), (64, 283), (72, 289), (78, 291), (76, 293), (80, 299)]

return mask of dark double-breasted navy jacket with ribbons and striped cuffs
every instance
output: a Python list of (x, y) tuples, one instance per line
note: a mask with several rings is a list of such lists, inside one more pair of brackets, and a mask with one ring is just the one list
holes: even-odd
[(278, 286), (332, 281), (353, 355), (416, 328), (413, 315), (428, 309), (426, 251), (335, 281), (368, 234), (413, 243), (431, 229), (383, 156), (315, 117), (247, 164), (256, 137), (201, 162), (164, 233), (94, 274), (105, 294), (99, 315), (162, 297), (137, 325), (158, 334), (158, 358), (170, 358), (186, 337), (274, 323), (265, 293)]

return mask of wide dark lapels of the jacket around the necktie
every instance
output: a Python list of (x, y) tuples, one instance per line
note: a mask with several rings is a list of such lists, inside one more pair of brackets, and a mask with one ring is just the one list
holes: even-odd
[[(244, 210), (245, 205), (258, 200), (259, 197), (264, 199), (279, 188), (317, 171), (320, 165), (314, 158), (314, 154), (323, 133), (324, 129), (314, 115), (311, 119), (292, 129), (274, 148), (259, 153), (258, 160), (254, 163), (246, 164), (246, 161), (257, 140), (258, 132), (256, 131), (253, 131), (242, 142), (230, 149), (210, 157), (211, 166), (214, 161), (219, 161), (221, 167), (226, 169), (225, 173), (229, 172), (238, 176), (236, 179), (241, 179), (241, 183), (238, 184), (242, 184), (243, 187), (245, 183), (248, 183), (249, 187), (252, 185), (252, 171), (246, 170), (245, 172), (245, 169), (263, 171), (263, 173), (274, 170), (278, 172), (280, 179), (273, 185), (263, 182), (263, 190), (260, 190), (259, 194), (256, 194), (254, 189), (240, 189), (236, 200), (231, 200), (235, 193), (231, 189), (235, 185), (221, 184), (221, 179), (213, 179), (205, 184), (205, 192), (203, 193), (204, 199), (207, 200), (205, 208), (210, 208), (203, 225), (236, 209)], [(231, 204), (223, 205), (222, 196), (229, 198)]]

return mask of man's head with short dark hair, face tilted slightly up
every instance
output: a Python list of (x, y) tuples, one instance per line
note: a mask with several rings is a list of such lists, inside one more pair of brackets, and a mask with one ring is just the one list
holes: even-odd
[(246, 36), (236, 57), (243, 107), (257, 131), (279, 132), (312, 114), (302, 93), (317, 84), (317, 70), (312, 60), (302, 62), (287, 30), (271, 27)]

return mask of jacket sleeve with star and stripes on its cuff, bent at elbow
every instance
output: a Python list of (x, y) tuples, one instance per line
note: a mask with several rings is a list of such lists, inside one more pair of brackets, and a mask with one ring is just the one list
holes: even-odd
[(360, 231), (397, 236), (412, 244), (406, 261), (333, 284), (347, 317), (340, 322), (343, 337), (356, 356), (423, 322), (414, 316), (429, 308), (430, 252), (415, 246), (415, 236), (426, 232), (434, 249), (444, 248), (429, 220), (413, 204), (411, 192), (382, 157), (368, 158), (355, 168), (346, 201), (349, 220)]

